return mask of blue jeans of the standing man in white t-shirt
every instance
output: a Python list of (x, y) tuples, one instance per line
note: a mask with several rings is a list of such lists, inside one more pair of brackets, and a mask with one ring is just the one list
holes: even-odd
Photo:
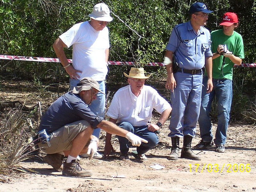
[[(75, 80), (75, 79), (69, 79), (70, 83), (70, 90), (73, 90), (73, 88), (76, 86), (76, 84), (79, 83), (80, 80)], [(105, 81), (97, 81), (100, 84), (100, 91), (105, 93)], [(91, 111), (100, 117), (105, 117), (105, 102), (106, 102), (106, 97), (104, 94), (98, 92), (97, 94), (97, 99), (92, 101), (92, 103), (88, 106)], [(99, 138), (100, 135), (100, 128), (94, 129), (92, 135), (95, 137)]]

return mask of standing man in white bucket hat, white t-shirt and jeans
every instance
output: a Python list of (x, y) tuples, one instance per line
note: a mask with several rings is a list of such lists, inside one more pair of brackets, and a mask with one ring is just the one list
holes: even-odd
[[(88, 15), (91, 20), (75, 24), (68, 31), (57, 38), (53, 44), (54, 51), (64, 69), (70, 76), (70, 90), (84, 77), (91, 77), (100, 84), (100, 90), (105, 93), (105, 78), (108, 73), (109, 37), (108, 28), (110, 11), (106, 4), (94, 5), (92, 13)], [(68, 63), (64, 53), (64, 47), (73, 46), (72, 60)], [(98, 99), (94, 100), (90, 109), (96, 115), (105, 115), (105, 95), (98, 93)], [(93, 135), (97, 138), (100, 129), (95, 129)], [(84, 155), (84, 157), (88, 157)], [(101, 158), (102, 155), (95, 153), (93, 158)]]

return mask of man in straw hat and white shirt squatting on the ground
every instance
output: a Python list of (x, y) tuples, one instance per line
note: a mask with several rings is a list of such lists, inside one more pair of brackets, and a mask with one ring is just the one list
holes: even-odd
[[(150, 86), (144, 85), (145, 80), (151, 75), (145, 76), (144, 68), (131, 68), (127, 86), (120, 88), (114, 95), (108, 108), (109, 121), (119, 127), (138, 135), (148, 141), (137, 147), (137, 159), (146, 159), (145, 153), (158, 143), (158, 131), (171, 113), (170, 104)], [(156, 109), (161, 114), (156, 124), (150, 123), (152, 111)], [(128, 140), (118, 137), (120, 143), (120, 159), (128, 159)], [(110, 142), (111, 134), (107, 133), (104, 157), (108, 157), (113, 146)]]

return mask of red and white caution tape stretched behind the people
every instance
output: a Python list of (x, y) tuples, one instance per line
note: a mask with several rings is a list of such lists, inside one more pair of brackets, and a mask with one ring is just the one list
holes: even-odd
[[(12, 56), (12, 55), (0, 55), (0, 59), (6, 60), (23, 60), (23, 61), (37, 61), (37, 62), (60, 62), (57, 58), (44, 58), (44, 57), (26, 57), (26, 56)], [(68, 59), (69, 63), (72, 63), (72, 59)], [(109, 65), (136, 65), (135, 62), (131, 61), (108, 61)], [(164, 63), (150, 62), (144, 66), (164, 66)], [(256, 67), (256, 63), (242, 63), (242, 65), (234, 67)]]

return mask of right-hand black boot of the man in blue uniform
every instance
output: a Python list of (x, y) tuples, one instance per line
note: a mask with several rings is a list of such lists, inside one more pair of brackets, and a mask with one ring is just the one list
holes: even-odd
[(193, 137), (186, 135), (183, 138), (183, 148), (181, 150), (181, 158), (187, 158), (187, 159), (192, 159), (192, 160), (201, 160), (201, 157), (196, 155), (192, 150), (191, 150), (191, 143), (192, 143)]

